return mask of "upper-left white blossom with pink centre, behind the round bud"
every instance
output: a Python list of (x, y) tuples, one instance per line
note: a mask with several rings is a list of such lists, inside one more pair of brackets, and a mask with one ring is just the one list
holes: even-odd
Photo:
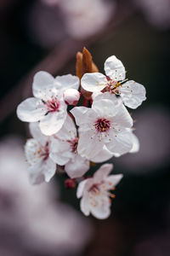
[(79, 79), (71, 74), (54, 77), (47, 72), (38, 72), (33, 80), (33, 96), (21, 102), (17, 108), (19, 119), (37, 122), (44, 135), (59, 131), (66, 119), (67, 105), (63, 93), (67, 89), (78, 89)]

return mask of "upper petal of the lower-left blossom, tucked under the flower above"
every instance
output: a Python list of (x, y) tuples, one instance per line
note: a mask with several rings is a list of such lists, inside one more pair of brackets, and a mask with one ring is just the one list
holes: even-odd
[(42, 145), (48, 141), (48, 137), (42, 134), (38, 122), (30, 123), (29, 128), (31, 136), (37, 139), (38, 142), (42, 143)]

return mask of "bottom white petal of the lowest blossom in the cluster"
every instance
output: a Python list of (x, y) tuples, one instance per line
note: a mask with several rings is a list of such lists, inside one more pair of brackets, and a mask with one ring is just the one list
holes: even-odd
[(95, 196), (94, 205), (89, 204), (89, 206), (95, 218), (105, 219), (111, 214), (111, 203), (107, 196)]

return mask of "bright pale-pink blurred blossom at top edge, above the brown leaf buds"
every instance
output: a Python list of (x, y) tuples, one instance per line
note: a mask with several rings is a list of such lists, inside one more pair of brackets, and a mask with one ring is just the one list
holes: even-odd
[(115, 2), (103, 0), (60, 0), (68, 34), (88, 38), (99, 32), (115, 14)]

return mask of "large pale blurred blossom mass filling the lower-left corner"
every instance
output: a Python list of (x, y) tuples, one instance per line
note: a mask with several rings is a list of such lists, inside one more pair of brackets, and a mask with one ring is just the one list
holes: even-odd
[(79, 255), (92, 236), (88, 219), (57, 201), (57, 184), (31, 186), (22, 148), (12, 137), (0, 143), (1, 255)]

